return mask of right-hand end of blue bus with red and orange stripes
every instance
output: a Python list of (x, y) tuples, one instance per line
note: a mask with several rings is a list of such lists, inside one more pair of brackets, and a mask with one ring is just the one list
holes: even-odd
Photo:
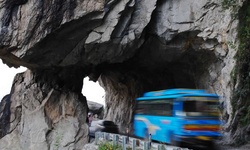
[(211, 145), (220, 134), (219, 97), (215, 94), (187, 95), (176, 101), (175, 116), (181, 130), (175, 141), (191, 145)]

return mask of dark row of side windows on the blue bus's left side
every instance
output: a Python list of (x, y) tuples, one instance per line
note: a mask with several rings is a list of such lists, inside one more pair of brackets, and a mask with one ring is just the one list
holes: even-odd
[(172, 116), (172, 101), (138, 101), (135, 113), (152, 116)]

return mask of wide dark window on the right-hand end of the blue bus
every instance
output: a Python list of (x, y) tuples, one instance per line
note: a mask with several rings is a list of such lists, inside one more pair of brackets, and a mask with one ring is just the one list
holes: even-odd
[(187, 100), (183, 101), (185, 116), (218, 117), (218, 100)]

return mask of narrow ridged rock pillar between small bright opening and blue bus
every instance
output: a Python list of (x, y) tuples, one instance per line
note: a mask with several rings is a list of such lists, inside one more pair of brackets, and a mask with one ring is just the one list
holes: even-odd
[(135, 98), (143, 90), (140, 79), (130, 73), (108, 71), (101, 75), (99, 83), (106, 92), (104, 118), (114, 121), (121, 133), (126, 133), (127, 128), (132, 132)]

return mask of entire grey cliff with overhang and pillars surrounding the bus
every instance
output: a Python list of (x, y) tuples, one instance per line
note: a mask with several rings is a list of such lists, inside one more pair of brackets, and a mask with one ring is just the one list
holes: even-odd
[(237, 135), (229, 141), (247, 140), (230, 128), (238, 20), (221, 0), (5, 0), (0, 7), (0, 58), (29, 69), (0, 107), (9, 115), (7, 131), (0, 130), (4, 148), (86, 143), (86, 76), (105, 89), (104, 117), (121, 132), (131, 127), (134, 99), (143, 92), (202, 88), (222, 96), (224, 128)]

